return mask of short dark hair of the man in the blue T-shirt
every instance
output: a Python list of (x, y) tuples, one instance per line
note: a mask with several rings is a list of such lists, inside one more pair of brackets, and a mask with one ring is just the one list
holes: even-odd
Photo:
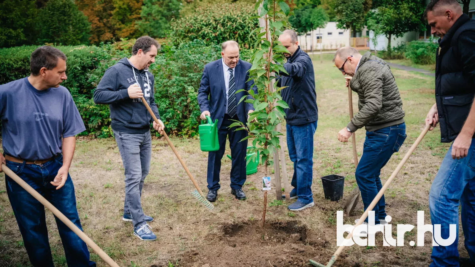
[(66, 60), (66, 55), (58, 48), (42, 46), (36, 48), (30, 56), (30, 72), (33, 76), (38, 76), (42, 67), (52, 70), (58, 64), (58, 58)]

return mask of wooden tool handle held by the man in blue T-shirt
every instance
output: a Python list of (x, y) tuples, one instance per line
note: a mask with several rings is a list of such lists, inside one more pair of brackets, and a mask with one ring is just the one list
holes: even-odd
[(60, 219), (64, 224), (66, 224), (69, 229), (76, 233), (76, 235), (81, 238), (89, 247), (91, 247), (94, 252), (101, 257), (105, 263), (107, 263), (111, 267), (119, 267), (114, 260), (109, 257), (99, 246), (97, 246), (91, 238), (86, 236), (86, 234), (81, 231), (71, 220), (67, 219), (66, 216), (59, 211), (53, 204), (51, 204), (48, 200), (46, 200), (42, 195), (40, 195), (36, 190), (34, 190), (28, 183), (23, 181), (15, 172), (11, 171), (5, 164), (1, 164), (1, 170), (5, 172), (13, 181), (18, 183), (24, 190), (30, 193), (36, 200), (38, 200), (43, 206), (45, 206), (48, 210), (51, 210), (53, 214)]

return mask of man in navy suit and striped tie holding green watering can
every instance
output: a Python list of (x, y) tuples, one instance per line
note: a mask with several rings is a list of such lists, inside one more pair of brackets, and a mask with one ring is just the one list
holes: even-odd
[[(248, 81), (248, 70), (251, 64), (239, 59), (239, 46), (236, 41), (226, 41), (221, 45), (221, 57), (208, 63), (203, 70), (203, 76), (198, 89), (198, 103), (201, 111), (201, 119), (206, 115), (214, 121), (218, 119), (219, 150), (208, 154), (208, 195), (209, 201), (216, 201), (218, 196), (219, 171), (221, 158), (224, 155), (226, 137), (229, 136), (231, 148), (231, 193), (238, 200), (244, 200), (246, 195), (242, 191), (242, 185), (246, 181), (246, 150), (247, 140), (241, 141), (247, 136), (246, 131), (235, 131), (237, 127), (228, 128), (239, 120), (246, 124), (248, 114), (254, 112), (253, 105), (242, 101), (237, 104), (242, 96), (248, 95), (240, 89), (249, 91), (257, 89), (254, 81)], [(251, 98), (251, 96), (248, 96)]]

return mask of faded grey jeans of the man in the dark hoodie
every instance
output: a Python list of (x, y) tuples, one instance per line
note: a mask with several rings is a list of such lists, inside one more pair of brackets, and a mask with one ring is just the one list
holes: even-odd
[(132, 215), (133, 229), (137, 229), (146, 224), (140, 199), (143, 182), (150, 170), (152, 137), (150, 131), (144, 134), (128, 134), (115, 130), (114, 136), (122, 157), (125, 175), (123, 212)]

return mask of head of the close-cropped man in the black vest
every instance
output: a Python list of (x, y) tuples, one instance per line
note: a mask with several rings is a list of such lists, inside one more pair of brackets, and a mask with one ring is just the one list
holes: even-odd
[(430, 33), (444, 38), (462, 14), (462, 8), (456, 0), (431, 0), (424, 11), (424, 18), (430, 26)]

